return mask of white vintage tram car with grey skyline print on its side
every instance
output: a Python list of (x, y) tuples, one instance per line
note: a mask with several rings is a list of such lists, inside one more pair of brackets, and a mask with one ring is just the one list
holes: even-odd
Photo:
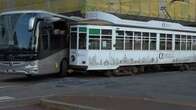
[(196, 62), (196, 28), (164, 21), (120, 19), (89, 12), (70, 29), (71, 68), (119, 67)]

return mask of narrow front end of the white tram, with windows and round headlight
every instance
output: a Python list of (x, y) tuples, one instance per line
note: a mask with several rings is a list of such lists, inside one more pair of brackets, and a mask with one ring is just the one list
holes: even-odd
[(72, 26), (70, 32), (70, 65), (87, 64), (87, 28)]

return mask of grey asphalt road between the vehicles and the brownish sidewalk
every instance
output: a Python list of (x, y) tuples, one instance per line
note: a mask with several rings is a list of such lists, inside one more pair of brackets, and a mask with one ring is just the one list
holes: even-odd
[(191, 104), (196, 102), (196, 72), (159, 72), (136, 76), (0, 75), (0, 109), (16, 103), (35, 103), (55, 95), (145, 97)]

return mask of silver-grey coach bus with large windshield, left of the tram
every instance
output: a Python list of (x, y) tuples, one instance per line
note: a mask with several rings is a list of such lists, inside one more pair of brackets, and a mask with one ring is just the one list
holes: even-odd
[(39, 75), (65, 73), (69, 22), (46, 11), (0, 14), (0, 73)]

